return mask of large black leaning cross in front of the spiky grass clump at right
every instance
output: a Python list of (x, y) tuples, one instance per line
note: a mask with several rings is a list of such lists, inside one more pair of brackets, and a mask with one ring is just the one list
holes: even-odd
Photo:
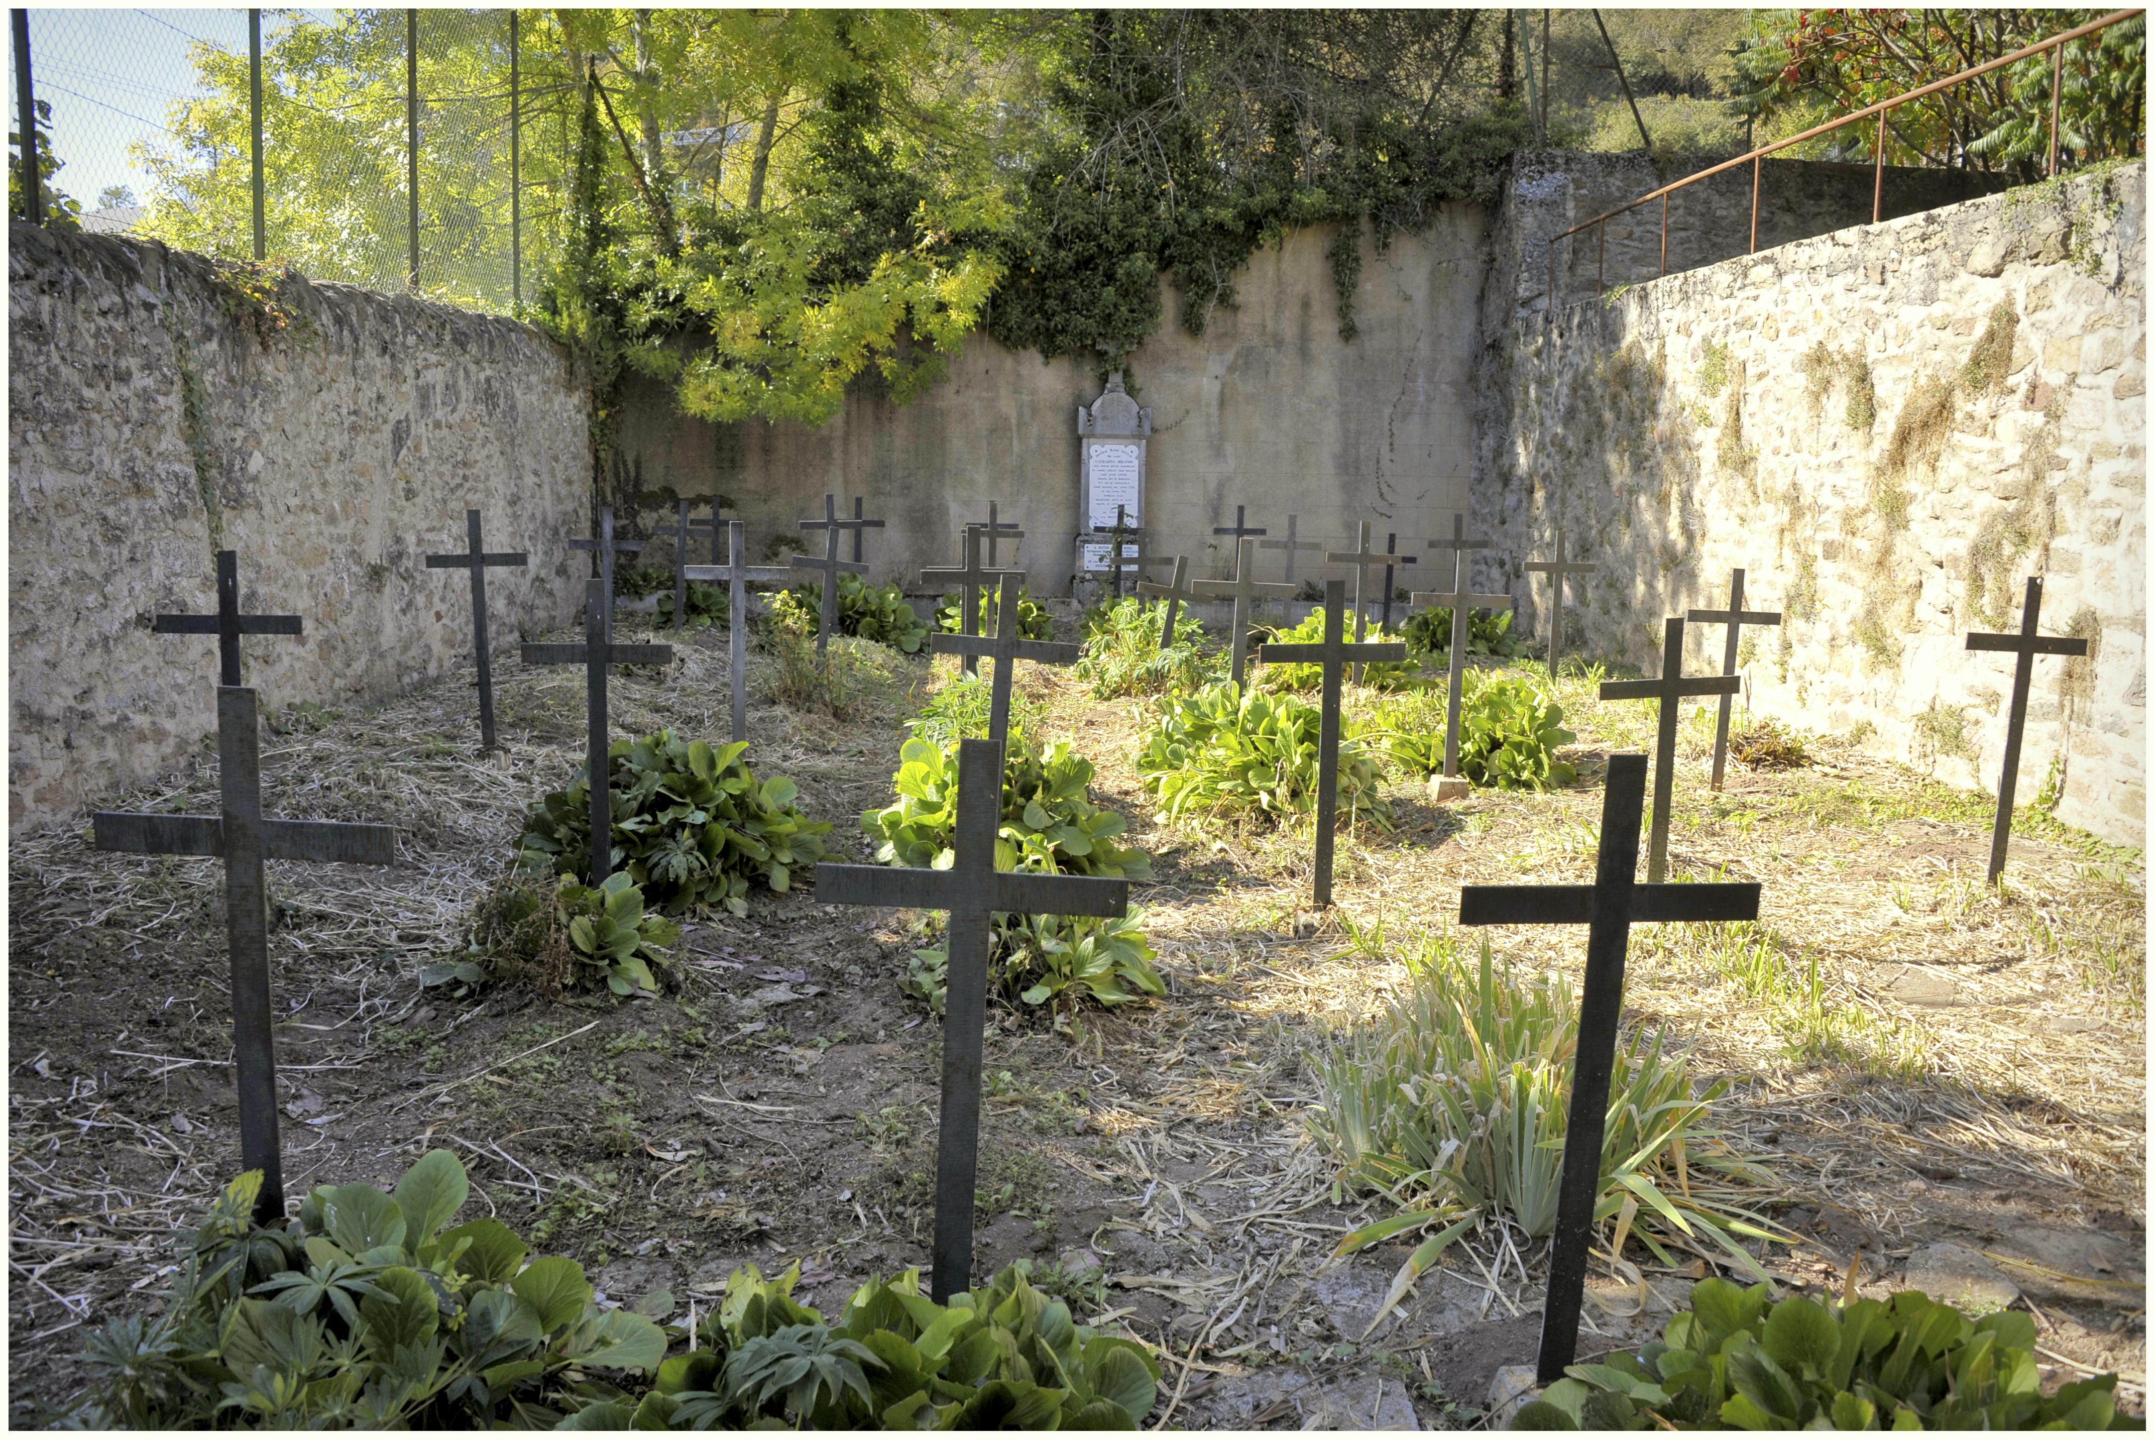
[[(1670, 621), (1672, 625), (1679, 621)], [(1633, 925), (1668, 920), (1756, 920), (1756, 884), (1636, 884), (1638, 823), (1646, 757), (1610, 757), (1601, 793), (1601, 847), (1590, 886), (1461, 886), (1461, 925), (1584, 925), (1586, 979), (1565, 1127), (1565, 1171), (1556, 1192), (1549, 1296), (1541, 1311), (1541, 1384), (1554, 1384), (1580, 1343), (1580, 1300), (1601, 1186), (1601, 1143), (1623, 1017), (1623, 966)]]

